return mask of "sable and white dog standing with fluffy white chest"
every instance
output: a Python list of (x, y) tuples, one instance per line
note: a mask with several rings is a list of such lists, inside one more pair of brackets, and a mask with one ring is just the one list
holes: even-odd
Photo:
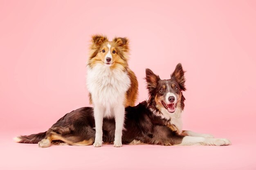
[(94, 147), (102, 146), (103, 118), (115, 117), (115, 147), (122, 146), (122, 129), (126, 106), (134, 106), (138, 96), (138, 82), (128, 67), (127, 38), (103, 35), (92, 36), (88, 60), (87, 87), (90, 103), (94, 104)]

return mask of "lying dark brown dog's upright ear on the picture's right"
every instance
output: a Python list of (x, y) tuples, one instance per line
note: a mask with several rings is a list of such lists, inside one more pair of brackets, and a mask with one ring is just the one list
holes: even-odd
[(171, 79), (175, 79), (176, 82), (179, 84), (180, 88), (182, 91), (186, 91), (185, 87), (185, 76), (184, 76), (185, 71), (182, 68), (182, 65), (179, 63), (177, 64), (175, 70), (171, 74)]

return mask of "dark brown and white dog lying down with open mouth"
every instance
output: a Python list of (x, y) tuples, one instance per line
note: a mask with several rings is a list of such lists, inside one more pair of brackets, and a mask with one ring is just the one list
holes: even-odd
[[(230, 145), (228, 139), (182, 131), (181, 113), (184, 109), (185, 77), (181, 64), (177, 64), (171, 79), (160, 79), (146, 69), (149, 98), (137, 106), (126, 108), (123, 144), (157, 145)], [(82, 132), (82, 133), (81, 133)], [(86, 146), (94, 143), (95, 123), (93, 108), (84, 107), (67, 113), (49, 130), (16, 138), (19, 143), (38, 143), (39, 147), (51, 144)], [(115, 119), (103, 119), (103, 142), (113, 144)]]

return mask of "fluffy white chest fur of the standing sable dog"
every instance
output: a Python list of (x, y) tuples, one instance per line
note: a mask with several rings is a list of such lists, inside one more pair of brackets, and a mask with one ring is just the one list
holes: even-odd
[(111, 114), (115, 105), (124, 104), (130, 84), (130, 77), (122, 70), (110, 69), (101, 64), (88, 68), (87, 87), (92, 95), (92, 102), (103, 106), (106, 114)]

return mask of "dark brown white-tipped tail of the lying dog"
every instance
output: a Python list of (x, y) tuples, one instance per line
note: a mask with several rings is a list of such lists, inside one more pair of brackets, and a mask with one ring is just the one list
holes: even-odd
[(37, 144), (39, 141), (45, 138), (46, 132), (40, 132), (38, 134), (32, 134), (28, 136), (18, 136), (13, 138), (13, 140), (17, 143)]

